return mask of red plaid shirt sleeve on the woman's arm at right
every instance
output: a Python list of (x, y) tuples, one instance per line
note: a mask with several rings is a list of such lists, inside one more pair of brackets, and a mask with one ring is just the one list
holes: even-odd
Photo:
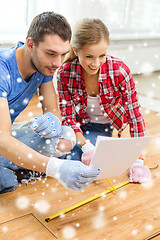
[(145, 123), (141, 114), (135, 83), (129, 68), (124, 63), (119, 68), (119, 77), (122, 104), (126, 112), (127, 122), (130, 126), (131, 137), (143, 137), (145, 133)]

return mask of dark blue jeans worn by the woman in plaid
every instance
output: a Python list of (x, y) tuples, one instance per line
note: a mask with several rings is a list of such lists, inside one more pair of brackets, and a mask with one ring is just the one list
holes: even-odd
[[(95, 145), (97, 136), (106, 136), (112, 137), (113, 126), (110, 123), (100, 124), (100, 123), (88, 123), (81, 126), (83, 131), (83, 135), (87, 140)], [(79, 144), (76, 144), (75, 147), (72, 149), (71, 153), (66, 155), (65, 158), (71, 160), (78, 160), (81, 161), (82, 156), (82, 149)], [(63, 156), (64, 158), (64, 156)]]

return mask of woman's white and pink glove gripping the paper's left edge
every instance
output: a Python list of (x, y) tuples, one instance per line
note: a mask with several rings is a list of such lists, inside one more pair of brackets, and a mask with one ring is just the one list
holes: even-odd
[(86, 141), (86, 143), (82, 145), (82, 151), (83, 151), (83, 154), (81, 157), (81, 161), (85, 165), (89, 166), (92, 160), (92, 157), (94, 155), (95, 146), (91, 142)]

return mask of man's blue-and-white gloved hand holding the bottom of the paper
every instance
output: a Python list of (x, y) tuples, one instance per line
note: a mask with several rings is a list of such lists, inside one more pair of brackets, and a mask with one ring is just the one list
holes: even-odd
[(89, 168), (80, 161), (49, 159), (46, 175), (56, 178), (66, 188), (80, 191), (100, 174), (99, 169)]

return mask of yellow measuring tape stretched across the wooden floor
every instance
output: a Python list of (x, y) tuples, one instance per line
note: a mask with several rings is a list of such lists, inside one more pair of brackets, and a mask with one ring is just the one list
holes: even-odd
[(88, 199), (86, 199), (86, 200), (84, 200), (84, 201), (82, 201), (82, 202), (80, 202), (80, 203), (77, 203), (77, 204), (75, 204), (75, 205), (73, 205), (73, 206), (71, 206), (71, 207), (69, 207), (69, 208), (66, 208), (66, 209), (64, 209), (64, 210), (62, 210), (62, 211), (60, 211), (60, 212), (58, 212), (58, 213), (55, 213), (55, 214), (53, 214), (52, 216), (47, 217), (47, 218), (45, 219), (45, 221), (46, 221), (46, 222), (49, 222), (49, 221), (51, 221), (52, 219), (54, 219), (54, 218), (56, 218), (56, 217), (59, 217), (60, 215), (62, 215), (62, 214), (64, 214), (64, 213), (70, 212), (70, 211), (72, 211), (72, 210), (75, 209), (75, 208), (81, 207), (82, 205), (84, 205), (84, 204), (86, 204), (86, 203), (89, 203), (89, 202), (91, 202), (91, 201), (93, 201), (93, 200), (95, 200), (95, 199), (97, 199), (97, 198), (99, 198), (99, 197), (101, 197), (101, 196), (109, 193), (109, 192), (115, 191), (116, 189), (121, 188), (121, 187), (125, 186), (126, 184), (130, 183), (129, 180), (128, 180), (128, 181), (126, 181), (126, 182), (120, 183), (120, 184), (118, 184), (117, 186), (113, 187), (113, 185), (111, 184), (111, 182), (109, 181), (108, 178), (107, 178), (107, 181), (109, 182), (109, 184), (111, 185), (112, 188), (110, 188), (110, 189), (108, 189), (108, 190), (106, 190), (106, 191), (104, 191), (104, 192), (101, 192), (101, 193), (99, 193), (99, 194), (96, 194), (96, 195), (94, 195), (93, 197), (90, 197), (90, 198), (88, 198)]

